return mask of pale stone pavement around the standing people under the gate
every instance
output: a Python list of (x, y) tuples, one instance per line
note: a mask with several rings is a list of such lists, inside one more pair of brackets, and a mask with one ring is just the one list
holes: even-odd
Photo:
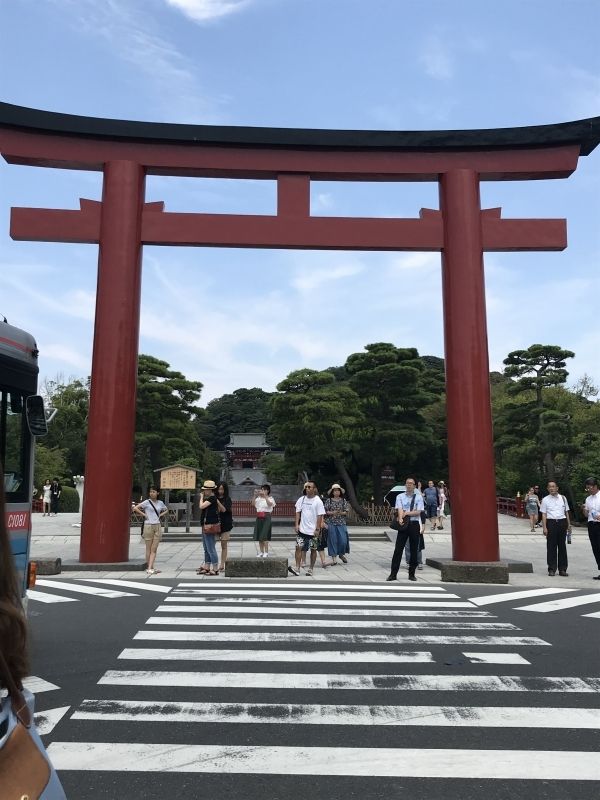
[[(59, 514), (56, 517), (42, 517), (41, 514), (33, 515), (33, 535), (31, 542), (31, 558), (62, 558), (63, 560), (75, 560), (79, 557), (79, 527), (75, 523), (80, 520), (78, 514)], [(556, 576), (550, 578), (546, 568), (546, 548), (545, 539), (541, 533), (532, 534), (529, 532), (527, 520), (519, 520), (505, 515), (498, 516), (500, 528), (500, 553), (502, 558), (530, 561), (533, 563), (533, 574), (531, 573), (511, 573), (510, 584), (513, 586), (556, 586), (562, 585), (572, 589), (599, 588), (598, 583), (592, 581), (592, 576), (598, 574), (596, 564), (592, 556), (586, 528), (574, 528), (573, 543), (568, 545), (569, 554), (569, 577), (560, 578)], [(443, 532), (432, 533), (429, 530), (425, 534), (424, 560), (427, 557), (450, 558), (451, 549), (451, 518), (448, 518)], [(170, 528), (170, 532), (183, 531), (183, 528)], [(281, 528), (279, 529), (282, 530)], [(317, 559), (313, 578), (301, 576), (294, 581), (325, 580), (333, 583), (339, 581), (359, 581), (359, 582), (379, 582), (385, 580), (389, 574), (390, 560), (392, 557), (394, 536), (389, 531), (390, 541), (382, 541), (381, 533), (383, 527), (361, 527), (352, 526), (350, 528), (351, 552), (348, 556), (347, 565), (339, 564), (336, 567), (323, 569), (320, 560)], [(250, 528), (236, 527), (232, 533), (229, 543), (229, 556), (232, 558), (256, 556), (256, 545), (249, 539), (240, 539), (241, 534), (249, 533)], [(352, 541), (352, 534), (361, 533), (376, 534), (376, 539), (369, 541), (361, 538)], [(473, 535), (477, 535), (476, 525), (473, 526)], [(217, 549), (219, 549), (217, 545)], [(294, 557), (294, 534), (290, 527), (289, 539), (277, 539), (271, 542), (271, 552), (274, 556), (282, 556), (290, 559), (293, 563)], [(140, 538), (139, 529), (132, 528), (130, 531), (129, 557), (141, 559), (145, 555), (144, 543)], [(161, 570), (161, 578), (174, 578), (189, 580), (196, 579), (196, 568), (203, 560), (202, 544), (199, 541), (191, 542), (162, 542), (156, 561), (156, 568)], [(85, 578), (90, 577), (90, 572), (67, 572), (68, 577)], [(140, 578), (145, 576), (144, 572), (139, 571), (102, 571), (94, 573), (98, 577), (110, 578)], [(436, 569), (425, 566), (417, 573), (419, 580), (429, 583), (439, 583), (440, 573)], [(400, 580), (404, 580), (403, 571), (399, 575)], [(211, 578), (203, 578), (210, 581)]]

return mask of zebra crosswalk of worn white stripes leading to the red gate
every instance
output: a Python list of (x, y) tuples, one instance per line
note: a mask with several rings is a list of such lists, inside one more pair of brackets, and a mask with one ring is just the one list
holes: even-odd
[(577, 747), (600, 731), (600, 678), (536, 676), (551, 642), (444, 587), (189, 582), (162, 600), (50, 741), (59, 771), (261, 775), (267, 797), (269, 776), (600, 780)]

